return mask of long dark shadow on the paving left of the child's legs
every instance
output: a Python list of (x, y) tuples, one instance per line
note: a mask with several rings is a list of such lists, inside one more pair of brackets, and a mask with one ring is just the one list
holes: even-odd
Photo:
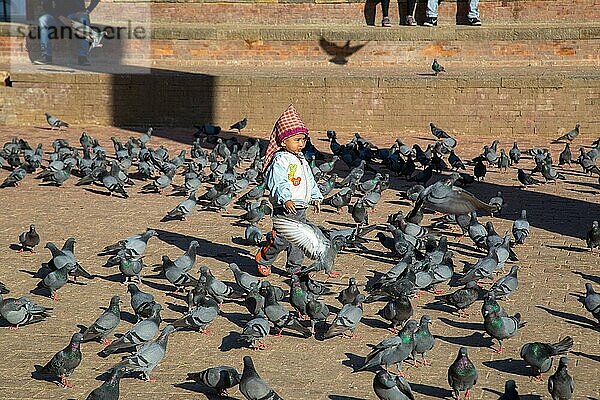
[(242, 250), (236, 247), (232, 247), (226, 244), (214, 243), (203, 238), (197, 238), (188, 235), (182, 235), (176, 232), (164, 231), (162, 229), (155, 229), (158, 238), (165, 243), (175, 245), (181, 250), (186, 251), (192, 240), (198, 241), (198, 255), (204, 257), (211, 257), (216, 260), (226, 263), (236, 263), (240, 268), (248, 263), (249, 258), (243, 255), (249, 255), (248, 250)]

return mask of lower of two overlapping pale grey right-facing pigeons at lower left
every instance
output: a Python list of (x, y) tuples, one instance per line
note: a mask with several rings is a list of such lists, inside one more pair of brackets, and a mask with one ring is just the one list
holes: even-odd
[(141, 372), (144, 380), (152, 382), (150, 374), (164, 358), (167, 352), (169, 335), (173, 332), (175, 332), (173, 325), (165, 326), (156, 339), (141, 346), (135, 354), (125, 358), (113, 366), (111, 370), (122, 368), (126, 372)]

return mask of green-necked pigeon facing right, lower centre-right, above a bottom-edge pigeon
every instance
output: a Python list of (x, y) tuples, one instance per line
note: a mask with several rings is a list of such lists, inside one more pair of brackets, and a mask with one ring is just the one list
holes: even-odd
[(409, 320), (397, 335), (386, 338), (373, 346), (373, 350), (365, 358), (365, 363), (357, 371), (365, 371), (380, 365), (387, 369), (396, 364), (400, 371), (400, 364), (408, 359), (414, 351), (414, 333), (417, 321)]

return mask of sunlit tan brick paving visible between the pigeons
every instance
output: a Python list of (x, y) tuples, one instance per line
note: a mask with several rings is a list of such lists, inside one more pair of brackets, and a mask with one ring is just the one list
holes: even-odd
[[(30, 143), (41, 141), (49, 149), (51, 139), (60, 136), (78, 144), (83, 127), (72, 127), (58, 133), (42, 128), (2, 128), (0, 142), (13, 136), (26, 138)], [(89, 127), (88, 132), (101, 139), (107, 148), (111, 147), (109, 137), (116, 135), (126, 138), (136, 134), (115, 128)], [(314, 134), (316, 138), (323, 133)], [(377, 144), (390, 144), (395, 136), (366, 135)], [(425, 129), (418, 132), (402, 133), (407, 143), (426, 144), (430, 134)], [(463, 137), (459, 154), (463, 158), (472, 157), (492, 137)], [(187, 148), (189, 131), (160, 131), (152, 139), (152, 145), (164, 144), (172, 152)], [(341, 139), (347, 139), (342, 135)], [(547, 146), (550, 138), (518, 138), (522, 148), (531, 145)], [(595, 137), (581, 135), (579, 144), (589, 144)], [(513, 138), (501, 138), (500, 147), (507, 149)], [(327, 150), (327, 144), (316, 140), (316, 145)], [(472, 145), (475, 143), (474, 145)], [(555, 160), (561, 145), (552, 145)], [(531, 168), (531, 160), (523, 161)], [(519, 349), (528, 341), (556, 342), (565, 335), (573, 336), (575, 345), (571, 351), (571, 374), (575, 377), (578, 399), (597, 399), (600, 397), (597, 379), (600, 376), (600, 333), (593, 326), (590, 315), (577, 301), (583, 293), (585, 282), (595, 282), (600, 286), (600, 258), (585, 251), (581, 239), (591, 224), (598, 219), (600, 188), (595, 179), (584, 177), (576, 168), (565, 171), (568, 180), (558, 185), (544, 185), (524, 191), (516, 187), (516, 173), (499, 173), (493, 169), (485, 183), (476, 185), (472, 191), (483, 199), (488, 199), (498, 190), (503, 192), (506, 211), (494, 223), (498, 232), (509, 230), (512, 220), (521, 208), (526, 208), (532, 223), (531, 236), (527, 245), (518, 248), (520, 261), (520, 288), (514, 296), (515, 302), (503, 304), (510, 312), (521, 312), (527, 326), (517, 337), (505, 342), (505, 352), (498, 355), (490, 350), (489, 338), (482, 338), (482, 319), (477, 303), (466, 319), (458, 318), (445, 310), (430, 309), (431, 294), (425, 294), (413, 301), (418, 319), (427, 312), (434, 319), (433, 333), (437, 336), (435, 348), (430, 354), (433, 363), (429, 368), (408, 368), (409, 381), (417, 398), (449, 397), (446, 374), (448, 365), (453, 361), (459, 346), (469, 348), (470, 356), (479, 370), (479, 382), (473, 395), (475, 398), (497, 398), (507, 379), (517, 381), (519, 391), (531, 396), (525, 398), (548, 398), (546, 382), (532, 383), (527, 377), (519, 357)], [(8, 171), (0, 171), (0, 179)], [(179, 177), (178, 179), (182, 179)], [(81, 264), (97, 275), (93, 281), (84, 281), (84, 285), (68, 284), (60, 290), (61, 300), (52, 300), (30, 295), (35, 301), (54, 306), (54, 317), (47, 321), (22, 327), (17, 331), (0, 330), (0, 352), (4, 362), (0, 363), (0, 394), (4, 399), (83, 399), (101, 380), (98, 377), (120, 357), (113, 355), (102, 359), (96, 355), (101, 350), (99, 343), (86, 343), (82, 346), (83, 362), (73, 375), (74, 389), (62, 389), (58, 386), (32, 378), (35, 364), (44, 364), (59, 349), (63, 348), (77, 325), (91, 323), (111, 296), (120, 294), (124, 301), (123, 321), (118, 332), (124, 332), (131, 326), (129, 296), (125, 287), (118, 282), (118, 271), (108, 270), (101, 265), (105, 258), (96, 253), (105, 245), (113, 243), (147, 227), (157, 229), (159, 238), (151, 239), (145, 261), (152, 265), (160, 262), (160, 256), (177, 256), (187, 247), (190, 240), (201, 243), (199, 264), (211, 267), (215, 275), (232, 280), (226, 269), (228, 262), (235, 261), (242, 268), (252, 270), (251, 256), (256, 248), (236, 244), (243, 228), (235, 225), (236, 216), (241, 210), (230, 208), (223, 214), (210, 211), (194, 212), (188, 222), (161, 223), (159, 220), (180, 200), (179, 197), (142, 195), (137, 192), (141, 186), (136, 182), (130, 188), (131, 197), (120, 199), (108, 197), (89, 188), (74, 186), (70, 179), (63, 187), (40, 185), (40, 182), (27, 177), (18, 188), (0, 190), (0, 203), (4, 212), (0, 214), (0, 280), (9, 286), (11, 296), (27, 294), (35, 287), (38, 279), (33, 278), (40, 264), (49, 258), (49, 252), (40, 246), (35, 254), (21, 254), (11, 249), (17, 236), (30, 223), (35, 223), (42, 235), (42, 244), (52, 241), (61, 245), (73, 236), (77, 239), (76, 255)], [(409, 206), (399, 201), (398, 189), (406, 183), (394, 180), (376, 213), (371, 216), (374, 223), (384, 222), (387, 214), (398, 209), (407, 210)], [(351, 222), (348, 214), (338, 216), (325, 210), (320, 215), (311, 215), (316, 222), (328, 226), (347, 225)], [(487, 220), (489, 217), (484, 217)], [(261, 226), (268, 228), (265, 220)], [(456, 264), (472, 261), (474, 250), (469, 239), (451, 237), (456, 253)], [(337, 261), (337, 269), (343, 272), (339, 279), (329, 279), (334, 290), (341, 289), (348, 277), (356, 276), (364, 284), (373, 270), (386, 271), (393, 260), (383, 252), (378, 242), (369, 243), (373, 254), (343, 253)], [(144, 290), (152, 292), (158, 301), (165, 305), (163, 318), (172, 319), (179, 313), (171, 310), (183, 304), (180, 298), (165, 295), (163, 280), (151, 278), (154, 273), (145, 270)], [(323, 278), (320, 276), (320, 278)], [(283, 278), (274, 274), (270, 280), (279, 282)], [(337, 306), (333, 297), (326, 299), (328, 304)], [(166, 358), (156, 368), (153, 377), (155, 383), (126, 378), (122, 381), (122, 399), (204, 399), (215, 398), (200, 392), (198, 386), (185, 383), (187, 372), (200, 371), (210, 366), (228, 364), (241, 367), (241, 359), (246, 354), (254, 357), (261, 376), (265, 378), (285, 399), (332, 399), (356, 400), (374, 399), (371, 388), (373, 374), (370, 372), (352, 373), (352, 366), (360, 365), (368, 353), (369, 343), (377, 343), (390, 335), (383, 327), (384, 321), (377, 316), (382, 303), (365, 305), (365, 317), (358, 329), (359, 338), (345, 340), (334, 338), (319, 341), (314, 338), (300, 339), (293, 336), (283, 338), (269, 337), (268, 349), (253, 352), (236, 341), (241, 331), (240, 324), (246, 317), (245, 310), (236, 303), (227, 303), (220, 316), (210, 326), (212, 335), (206, 336), (194, 332), (177, 332), (169, 340)], [(241, 399), (239, 391), (231, 391), (232, 398)]]

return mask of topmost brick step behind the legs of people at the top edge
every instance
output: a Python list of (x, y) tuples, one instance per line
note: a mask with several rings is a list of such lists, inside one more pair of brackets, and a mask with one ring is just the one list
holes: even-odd
[[(417, 5), (422, 22), (426, 2)], [(464, 22), (468, 3), (444, 0), (439, 5), (440, 24)], [(391, 1), (390, 17), (404, 21), (406, 0)], [(484, 24), (515, 22), (576, 22), (600, 20), (599, 0), (481, 0)], [(237, 24), (349, 24), (372, 25), (381, 21), (381, 7), (373, 0), (184, 0), (101, 1), (92, 18), (106, 21), (150, 18), (154, 22)]]

